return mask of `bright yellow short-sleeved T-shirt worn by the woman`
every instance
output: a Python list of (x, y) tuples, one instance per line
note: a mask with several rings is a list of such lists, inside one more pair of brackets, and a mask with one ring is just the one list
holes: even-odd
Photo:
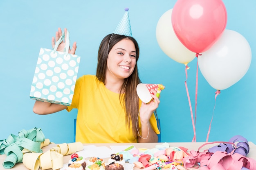
[[(137, 142), (137, 138), (132, 135), (132, 129), (126, 127), (125, 112), (120, 104), (119, 94), (108, 90), (96, 76), (84, 75), (77, 79), (72, 104), (67, 107), (67, 111), (73, 108), (78, 109), (76, 142)], [(154, 114), (150, 118), (150, 124), (159, 134)]]

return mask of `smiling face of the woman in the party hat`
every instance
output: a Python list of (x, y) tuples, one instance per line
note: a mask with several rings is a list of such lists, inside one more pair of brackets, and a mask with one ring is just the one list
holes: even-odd
[(130, 39), (119, 41), (108, 54), (106, 76), (129, 77), (136, 65), (135, 45)]

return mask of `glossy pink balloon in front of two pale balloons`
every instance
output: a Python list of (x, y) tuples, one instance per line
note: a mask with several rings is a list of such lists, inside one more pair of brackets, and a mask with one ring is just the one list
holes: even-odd
[(222, 0), (177, 0), (171, 21), (181, 43), (192, 52), (201, 53), (222, 35), (227, 10)]

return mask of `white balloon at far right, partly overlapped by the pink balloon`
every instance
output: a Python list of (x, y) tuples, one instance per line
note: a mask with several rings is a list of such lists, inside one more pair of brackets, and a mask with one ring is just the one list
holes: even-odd
[(243, 78), (251, 60), (252, 51), (245, 37), (226, 29), (209, 50), (198, 56), (198, 66), (211, 87), (223, 90)]

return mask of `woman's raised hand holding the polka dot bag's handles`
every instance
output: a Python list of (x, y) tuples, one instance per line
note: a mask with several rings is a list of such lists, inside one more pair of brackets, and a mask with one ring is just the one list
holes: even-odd
[[(61, 52), (64, 51), (64, 47), (66, 44), (67, 28), (64, 28), (64, 33), (65, 33), (65, 38), (64, 38), (65, 40), (59, 44), (57, 51), (61, 51)], [(54, 48), (56, 41), (58, 41), (58, 39), (61, 37), (61, 35), (62, 35), (61, 28), (58, 28), (58, 31), (56, 32), (56, 35), (55, 35), (55, 39), (54, 39), (54, 37), (52, 37), (52, 48)], [(76, 42), (74, 42), (71, 49), (70, 49), (70, 47), (68, 49), (69, 54), (75, 54), (75, 52), (76, 52)]]

